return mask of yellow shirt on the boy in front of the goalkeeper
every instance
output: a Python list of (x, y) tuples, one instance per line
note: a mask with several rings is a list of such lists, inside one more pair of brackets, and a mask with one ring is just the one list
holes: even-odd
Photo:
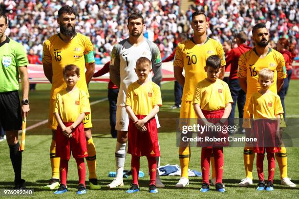
[(135, 81), (128, 86), (126, 106), (130, 106), (135, 115), (147, 116), (154, 105), (162, 105), (160, 87), (152, 81), (140, 85)]

